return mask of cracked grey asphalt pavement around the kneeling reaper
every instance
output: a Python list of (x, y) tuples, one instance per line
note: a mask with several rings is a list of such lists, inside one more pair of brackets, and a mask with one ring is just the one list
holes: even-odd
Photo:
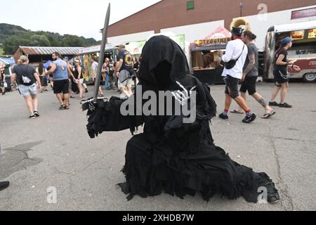
[[(258, 115), (254, 123), (243, 124), (244, 115), (229, 114), (230, 120), (216, 117), (211, 124), (217, 146), (275, 181), (281, 200), (273, 205), (220, 195), (209, 202), (200, 195), (181, 200), (167, 194), (127, 201), (117, 184), (124, 181), (121, 169), (130, 131), (90, 139), (79, 100), (60, 111), (52, 91), (39, 94), (41, 117), (36, 120), (28, 119), (18, 92), (0, 96), (0, 181), (11, 181), (0, 191), (0, 210), (316, 210), (316, 84), (290, 85), (288, 102), (294, 108), (275, 108), (277, 114), (263, 120), (263, 108), (249, 98)], [(258, 83), (267, 101), (272, 89), (272, 83)], [(211, 86), (218, 113), (223, 91), (222, 85)], [(118, 96), (117, 91), (105, 93)]]

